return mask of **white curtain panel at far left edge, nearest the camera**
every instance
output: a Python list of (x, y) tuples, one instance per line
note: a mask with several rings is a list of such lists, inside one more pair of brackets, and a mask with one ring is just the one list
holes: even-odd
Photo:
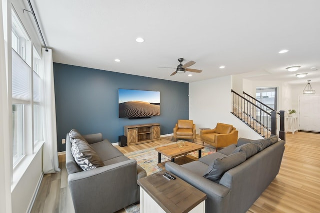
[[(3, 1), (3, 8), (7, 5)], [(3, 12), (6, 14), (6, 12)], [(2, 19), (3, 18), (3, 19)], [(9, 111), (8, 111), (8, 90), (7, 71), (5, 57), (5, 41), (3, 27), (7, 18), (2, 16), (2, 1), (0, 1), (0, 212), (11, 212), (11, 164), (10, 164), (10, 138), (9, 138)]]

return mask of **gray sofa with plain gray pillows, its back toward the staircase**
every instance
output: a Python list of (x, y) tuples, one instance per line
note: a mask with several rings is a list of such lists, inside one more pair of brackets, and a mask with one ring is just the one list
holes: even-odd
[(218, 153), (165, 169), (207, 195), (206, 213), (245, 213), (279, 172), (284, 141), (239, 138)]

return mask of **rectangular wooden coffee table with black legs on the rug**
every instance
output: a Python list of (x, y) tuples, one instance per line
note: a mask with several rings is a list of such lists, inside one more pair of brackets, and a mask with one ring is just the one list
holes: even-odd
[(163, 147), (157, 147), (154, 150), (158, 152), (158, 163), (161, 163), (161, 154), (170, 158), (172, 162), (174, 162), (174, 158), (194, 151), (198, 151), (198, 157), (201, 158), (201, 149), (203, 148), (204, 146), (200, 144), (184, 141), (184, 147), (181, 148), (179, 148), (175, 143)]

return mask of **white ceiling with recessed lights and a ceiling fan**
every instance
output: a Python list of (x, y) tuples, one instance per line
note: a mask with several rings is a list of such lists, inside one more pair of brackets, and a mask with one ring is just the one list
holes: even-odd
[[(240, 73), (252, 80), (320, 82), (319, 0), (31, 0), (31, 4), (57, 63), (180, 82)], [(144, 42), (136, 42), (137, 37)], [(282, 49), (289, 51), (279, 54)], [(170, 76), (175, 69), (158, 68), (176, 67), (178, 58), (195, 61), (189, 68), (203, 71)], [(294, 65), (301, 67), (296, 72), (285, 70)], [(308, 74), (299, 79), (297, 73)]]

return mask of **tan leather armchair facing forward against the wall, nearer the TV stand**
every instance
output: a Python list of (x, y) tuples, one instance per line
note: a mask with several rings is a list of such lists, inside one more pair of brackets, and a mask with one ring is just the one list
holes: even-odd
[(180, 139), (195, 139), (195, 124), (192, 120), (178, 120), (173, 128), (173, 137), (175, 141), (177, 138)]

